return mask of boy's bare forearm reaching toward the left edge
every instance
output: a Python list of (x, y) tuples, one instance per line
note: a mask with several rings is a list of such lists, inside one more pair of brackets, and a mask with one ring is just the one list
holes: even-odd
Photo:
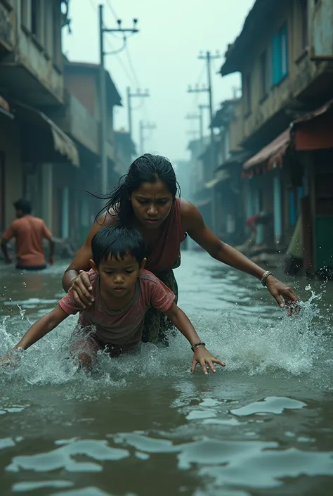
[(37, 320), (37, 322), (32, 324), (20, 342), (14, 347), (14, 350), (18, 350), (18, 348), (27, 350), (27, 348), (39, 341), (39, 339), (46, 336), (48, 332), (58, 326), (60, 322), (63, 322), (66, 317), (68, 317), (68, 314), (58, 305), (54, 310), (52, 310), (52, 312), (49, 312), (44, 315), (44, 317)]

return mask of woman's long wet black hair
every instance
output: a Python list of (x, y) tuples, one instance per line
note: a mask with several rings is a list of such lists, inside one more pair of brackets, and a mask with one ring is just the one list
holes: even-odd
[(96, 219), (100, 213), (109, 211), (118, 215), (122, 224), (128, 223), (133, 218), (131, 204), (133, 191), (139, 189), (143, 182), (155, 183), (157, 181), (164, 182), (174, 200), (177, 192), (180, 192), (180, 187), (170, 160), (161, 155), (151, 155), (150, 153), (136, 158), (129, 167), (129, 172), (119, 179), (119, 186), (112, 191), (110, 196), (98, 197), (108, 201), (105, 208), (98, 212)]

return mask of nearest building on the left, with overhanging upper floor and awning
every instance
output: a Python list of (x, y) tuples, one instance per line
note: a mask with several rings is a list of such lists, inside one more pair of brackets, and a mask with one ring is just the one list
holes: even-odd
[(0, 1), (0, 94), (9, 110), (0, 116), (2, 229), (21, 196), (52, 228), (53, 165), (79, 167), (74, 142), (48, 117), (64, 104), (62, 4), (68, 1)]

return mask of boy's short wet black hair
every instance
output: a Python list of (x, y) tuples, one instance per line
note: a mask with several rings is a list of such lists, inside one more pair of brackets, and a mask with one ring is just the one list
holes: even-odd
[(97, 267), (100, 262), (107, 260), (110, 256), (117, 260), (119, 258), (124, 260), (126, 255), (132, 255), (138, 265), (141, 265), (145, 257), (145, 242), (137, 229), (116, 224), (103, 227), (93, 236), (91, 251)]

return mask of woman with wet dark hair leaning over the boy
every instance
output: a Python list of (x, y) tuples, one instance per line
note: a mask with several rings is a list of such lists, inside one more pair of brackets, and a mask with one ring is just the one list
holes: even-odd
[[(174, 168), (166, 158), (146, 153), (134, 160), (63, 276), (63, 288), (65, 291), (72, 288), (81, 307), (91, 304), (92, 300), (89, 277), (84, 272), (90, 269), (91, 239), (102, 227), (117, 222), (141, 231), (148, 258), (145, 268), (174, 291), (176, 301), (178, 287), (173, 269), (181, 263), (180, 246), (187, 234), (211, 257), (261, 280), (280, 307), (297, 301), (292, 288), (219, 240), (204, 224), (197, 208), (176, 196), (177, 185)], [(171, 323), (152, 309), (145, 317), (143, 341), (164, 341), (169, 329)]]

